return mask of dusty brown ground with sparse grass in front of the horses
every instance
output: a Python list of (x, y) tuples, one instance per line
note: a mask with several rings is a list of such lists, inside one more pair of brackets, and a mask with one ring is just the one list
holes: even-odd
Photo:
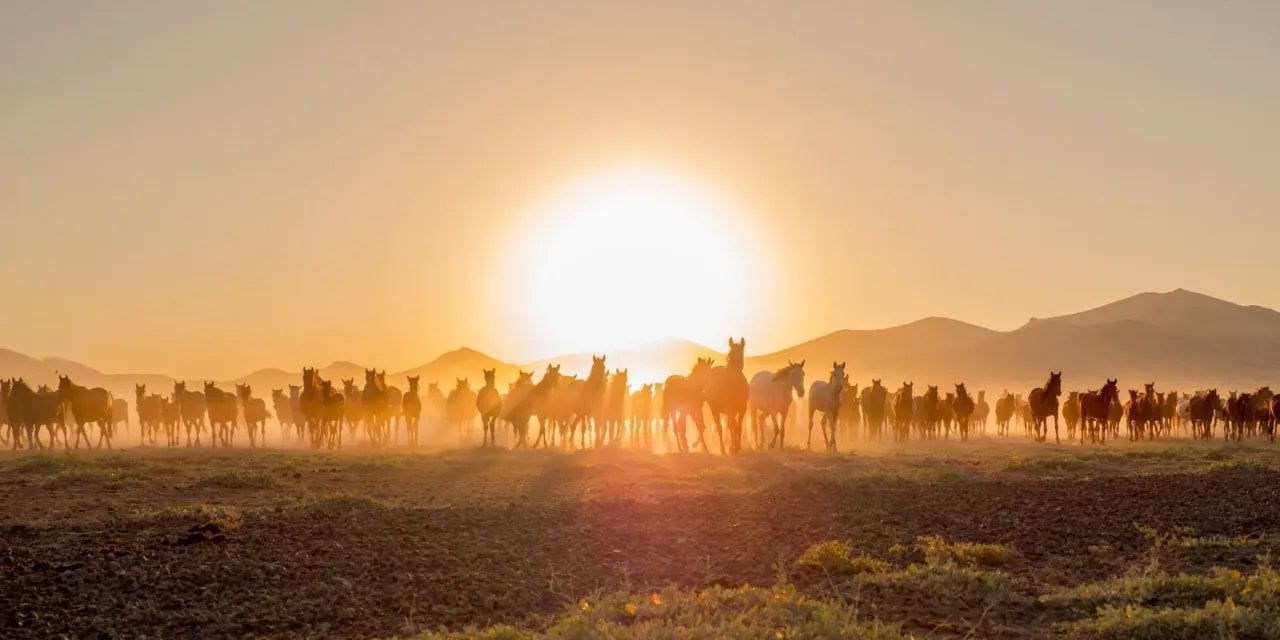
[(1277, 470), (1189, 442), (6, 453), (0, 636), (671, 637), (744, 607), (705, 636), (1275, 637)]

